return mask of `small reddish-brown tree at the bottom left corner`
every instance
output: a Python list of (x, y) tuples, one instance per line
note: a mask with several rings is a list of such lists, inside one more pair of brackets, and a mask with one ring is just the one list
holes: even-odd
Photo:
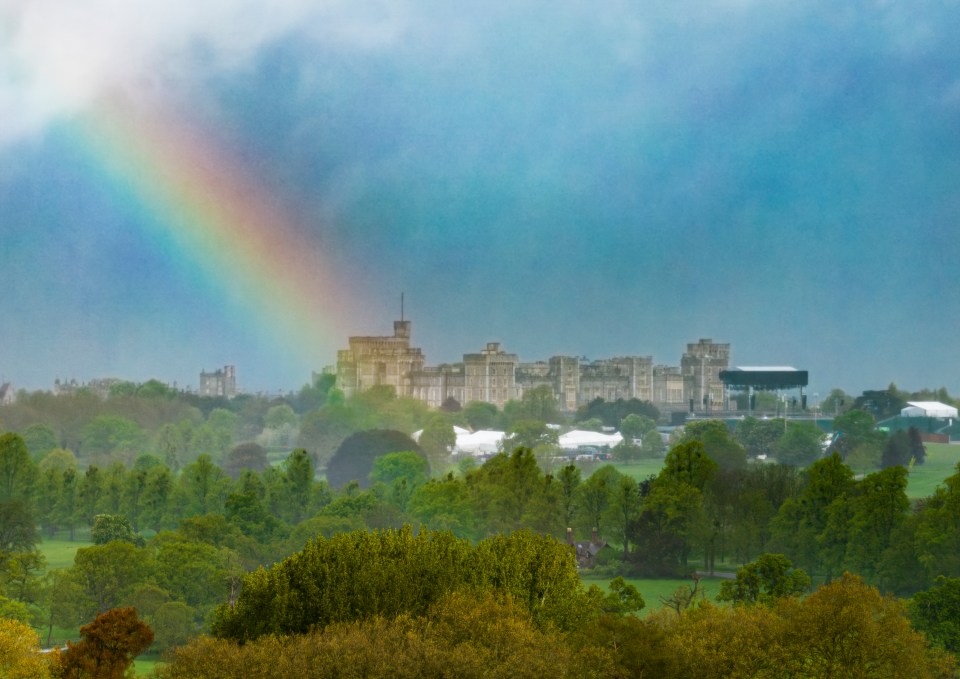
[(134, 608), (115, 608), (80, 628), (79, 643), (67, 642), (60, 656), (63, 679), (124, 679), (134, 659), (153, 643), (153, 630)]

